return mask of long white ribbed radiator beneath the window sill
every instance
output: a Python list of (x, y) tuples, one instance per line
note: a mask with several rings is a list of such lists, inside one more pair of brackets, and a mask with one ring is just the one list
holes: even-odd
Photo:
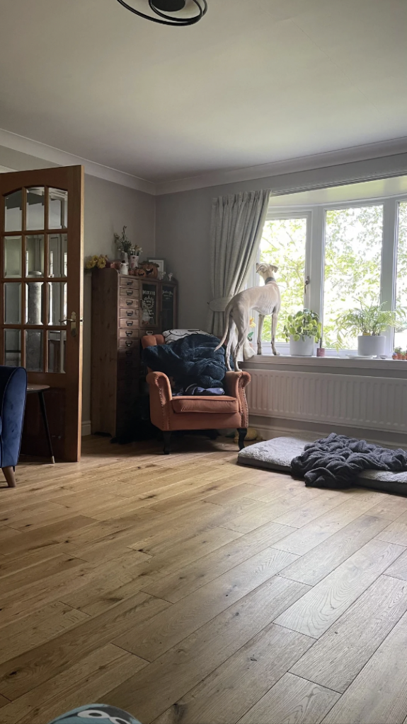
[(250, 370), (252, 415), (406, 432), (407, 380)]

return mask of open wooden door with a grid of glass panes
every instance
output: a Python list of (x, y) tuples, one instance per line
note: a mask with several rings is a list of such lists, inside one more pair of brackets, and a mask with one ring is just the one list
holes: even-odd
[[(83, 167), (0, 174), (0, 362), (45, 393), (54, 454), (80, 458)], [(70, 321), (74, 320), (74, 321)], [(22, 452), (48, 455), (38, 395), (28, 395)]]

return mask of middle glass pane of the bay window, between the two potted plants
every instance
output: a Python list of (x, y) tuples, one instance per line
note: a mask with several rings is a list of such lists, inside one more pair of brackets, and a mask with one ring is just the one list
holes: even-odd
[(383, 207), (330, 209), (325, 217), (323, 346), (356, 350), (357, 334), (337, 337), (336, 319), (362, 304), (378, 304), (382, 274)]

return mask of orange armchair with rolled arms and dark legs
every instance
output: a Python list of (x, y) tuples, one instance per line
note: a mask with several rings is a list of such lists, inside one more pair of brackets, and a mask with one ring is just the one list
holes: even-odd
[[(141, 338), (143, 349), (164, 345), (162, 334), (146, 334)], [(226, 395), (219, 397), (172, 397), (171, 384), (164, 372), (148, 370), (151, 422), (164, 435), (164, 454), (170, 452), (172, 430), (211, 430), (235, 427), (239, 433), (239, 450), (244, 447), (248, 428), (248, 404), (245, 387), (250, 382), (248, 372), (227, 372)]]

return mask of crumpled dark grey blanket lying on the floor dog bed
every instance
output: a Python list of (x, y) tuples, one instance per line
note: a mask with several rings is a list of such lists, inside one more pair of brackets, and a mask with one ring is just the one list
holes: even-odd
[(350, 487), (356, 476), (367, 468), (393, 473), (407, 471), (407, 452), (332, 432), (328, 437), (310, 442), (298, 458), (291, 460), (293, 476), (315, 487)]

